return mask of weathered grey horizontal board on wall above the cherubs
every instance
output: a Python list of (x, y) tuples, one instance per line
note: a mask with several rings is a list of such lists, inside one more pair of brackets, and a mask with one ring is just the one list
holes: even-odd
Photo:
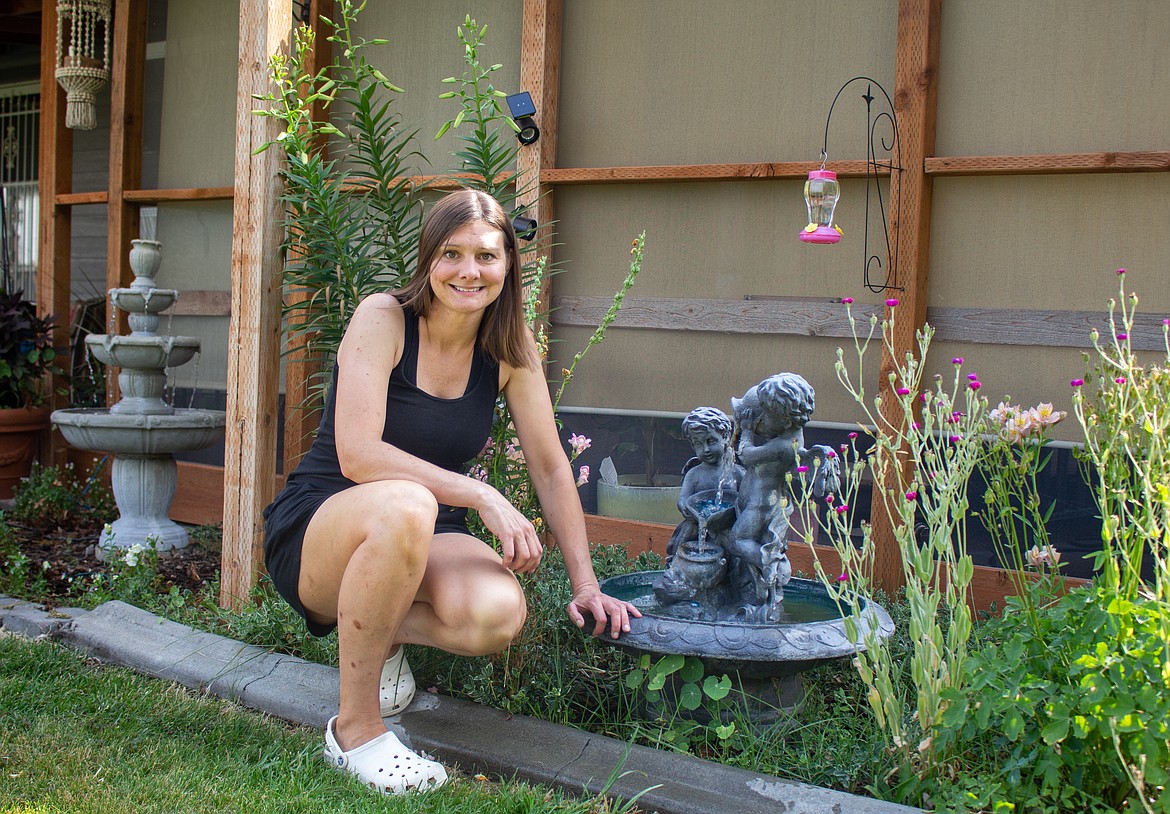
[[(555, 296), (552, 324), (594, 327), (613, 304), (612, 297)], [(879, 305), (852, 306), (859, 323), (882, 316)], [(1162, 316), (1138, 313), (1130, 343), (1134, 350), (1164, 350)], [(1089, 331), (1109, 336), (1104, 311), (1039, 311), (1025, 309), (928, 308), (927, 322), (942, 340), (990, 345), (1092, 347)], [(845, 306), (834, 299), (674, 299), (627, 297), (614, 327), (720, 333), (852, 337)]]

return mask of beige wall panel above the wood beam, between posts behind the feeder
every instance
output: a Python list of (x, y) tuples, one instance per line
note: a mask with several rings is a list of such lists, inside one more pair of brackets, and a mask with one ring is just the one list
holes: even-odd
[[(892, 2), (566, 2), (558, 166), (813, 160), (845, 80), (893, 87), (896, 22)], [(830, 150), (863, 158), (835, 120)]]

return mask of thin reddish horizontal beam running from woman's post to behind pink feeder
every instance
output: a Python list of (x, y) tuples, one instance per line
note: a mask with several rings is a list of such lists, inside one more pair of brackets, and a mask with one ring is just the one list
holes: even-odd
[[(804, 180), (820, 161), (690, 164), (646, 167), (557, 167), (541, 171), (541, 184), (659, 184), (663, 181)], [(865, 178), (862, 160), (833, 161), (840, 178)], [(880, 173), (888, 175), (889, 172)]]

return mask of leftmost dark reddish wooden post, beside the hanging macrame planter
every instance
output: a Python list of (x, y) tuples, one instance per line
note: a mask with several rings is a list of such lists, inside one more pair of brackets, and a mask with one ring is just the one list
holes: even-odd
[[(40, 208), (40, 265), (36, 273), (36, 311), (41, 316), (56, 316), (53, 345), (69, 347), (69, 243), (73, 209), (57, 206), (57, 195), (73, 189), (73, 131), (66, 127), (66, 94), (57, 85), (56, 7), (47, 4), (41, 14), (41, 132), (37, 159), (37, 194)], [(67, 358), (67, 357), (66, 357)], [(67, 365), (68, 366), (68, 365)], [(53, 377), (50, 403), (64, 407), (57, 392), (64, 386), (63, 377)], [(44, 433), (41, 440), (41, 461), (64, 463), (66, 446), (57, 433)]]

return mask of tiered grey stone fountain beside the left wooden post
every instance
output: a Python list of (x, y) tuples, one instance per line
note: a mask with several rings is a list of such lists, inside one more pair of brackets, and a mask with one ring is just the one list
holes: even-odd
[(91, 334), (89, 352), (98, 361), (121, 368), (122, 399), (109, 409), (58, 409), (53, 423), (80, 449), (112, 453), (113, 498), (119, 517), (102, 534), (98, 557), (111, 547), (149, 545), (159, 552), (183, 549), (187, 532), (167, 517), (174, 499), (174, 453), (202, 449), (223, 437), (223, 411), (177, 408), (164, 400), (167, 371), (191, 361), (199, 352), (195, 337), (159, 336), (159, 313), (179, 292), (154, 284), (161, 261), (160, 244), (132, 241), (130, 288), (110, 290), (111, 308), (126, 311), (129, 336)]

